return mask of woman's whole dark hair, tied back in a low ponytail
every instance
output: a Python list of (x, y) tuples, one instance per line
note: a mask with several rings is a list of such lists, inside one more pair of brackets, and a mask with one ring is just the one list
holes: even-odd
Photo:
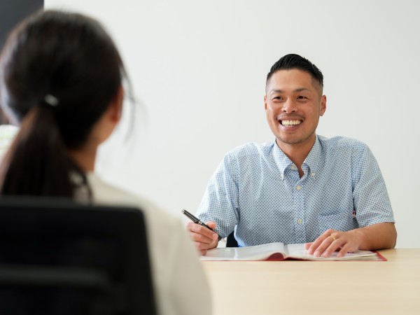
[(20, 131), (1, 162), (0, 194), (74, 197), (86, 177), (68, 152), (85, 144), (124, 76), (92, 18), (45, 10), (15, 27), (0, 55), (0, 97)]

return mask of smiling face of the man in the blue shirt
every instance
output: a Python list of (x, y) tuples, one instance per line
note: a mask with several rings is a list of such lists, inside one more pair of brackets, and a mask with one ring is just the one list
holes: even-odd
[(307, 72), (279, 70), (269, 78), (265, 93), (268, 125), (280, 148), (284, 144), (312, 146), (319, 116), (326, 109), (321, 85)]

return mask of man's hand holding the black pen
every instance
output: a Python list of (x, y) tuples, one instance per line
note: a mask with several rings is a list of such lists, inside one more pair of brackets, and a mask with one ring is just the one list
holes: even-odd
[[(209, 228), (216, 228), (216, 222), (214, 221), (209, 221), (206, 224)], [(200, 224), (188, 222), (187, 230), (190, 232), (190, 237), (193, 239), (195, 247), (200, 251), (201, 255), (206, 255), (207, 250), (215, 248), (218, 244), (217, 233), (208, 228), (204, 228), (204, 226)]]

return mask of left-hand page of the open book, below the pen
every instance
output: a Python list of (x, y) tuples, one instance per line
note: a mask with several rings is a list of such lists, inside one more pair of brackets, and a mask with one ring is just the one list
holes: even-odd
[(285, 256), (283, 243), (270, 243), (246, 247), (212, 248), (200, 260), (265, 260), (274, 253)]

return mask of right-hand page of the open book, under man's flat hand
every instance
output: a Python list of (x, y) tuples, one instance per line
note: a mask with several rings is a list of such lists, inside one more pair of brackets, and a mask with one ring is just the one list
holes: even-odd
[(338, 251), (335, 251), (330, 257), (315, 257), (309, 255), (304, 244), (288, 244), (285, 245), (285, 251), (288, 258), (297, 258), (304, 260), (382, 260), (373, 251), (355, 251), (354, 253), (346, 253), (343, 257), (337, 257)]

